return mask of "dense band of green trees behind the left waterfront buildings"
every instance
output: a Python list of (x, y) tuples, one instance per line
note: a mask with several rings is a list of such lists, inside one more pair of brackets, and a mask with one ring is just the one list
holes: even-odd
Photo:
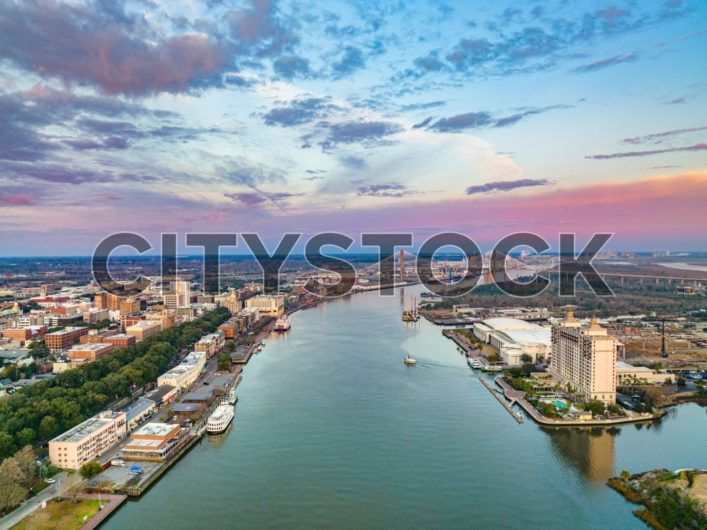
[(51, 439), (117, 398), (130, 396), (133, 385), (154, 381), (167, 371), (180, 348), (213, 333), (228, 316), (228, 309), (216, 309), (1, 399), (0, 461), (19, 447)]

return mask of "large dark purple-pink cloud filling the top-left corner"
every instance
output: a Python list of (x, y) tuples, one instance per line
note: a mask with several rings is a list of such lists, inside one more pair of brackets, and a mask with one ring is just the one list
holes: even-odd
[(223, 41), (203, 33), (160, 35), (144, 16), (113, 2), (6, 2), (0, 50), (41, 76), (98, 86), (110, 95), (185, 91), (220, 76), (228, 64)]

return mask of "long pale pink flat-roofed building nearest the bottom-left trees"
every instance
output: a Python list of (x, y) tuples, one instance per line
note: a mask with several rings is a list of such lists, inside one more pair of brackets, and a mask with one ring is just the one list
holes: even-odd
[(125, 413), (107, 410), (50, 440), (49, 458), (62, 469), (78, 469), (125, 434)]

